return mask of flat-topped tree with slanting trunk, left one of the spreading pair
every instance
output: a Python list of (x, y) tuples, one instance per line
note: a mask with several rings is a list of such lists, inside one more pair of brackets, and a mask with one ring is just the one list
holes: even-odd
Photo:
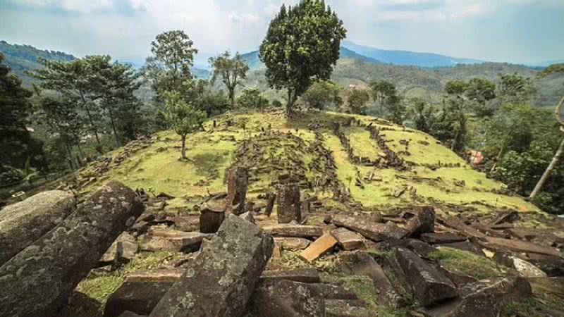
[(110, 56), (86, 56), (64, 62), (39, 58), (38, 62), (44, 68), (30, 72), (30, 75), (42, 81), (40, 87), (59, 92), (85, 111), (90, 131), (94, 133), (98, 144), (100, 109), (97, 101), (101, 98), (99, 91), (104, 86), (99, 71), (109, 65), (110, 59)]

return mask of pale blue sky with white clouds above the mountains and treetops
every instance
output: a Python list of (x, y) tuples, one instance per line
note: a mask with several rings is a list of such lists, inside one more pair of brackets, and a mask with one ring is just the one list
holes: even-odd
[[(0, 0), (0, 39), (75, 56), (142, 62), (160, 32), (202, 54), (258, 48), (282, 3), (298, 0)], [(564, 60), (564, 0), (326, 0), (347, 39), (485, 61)]]

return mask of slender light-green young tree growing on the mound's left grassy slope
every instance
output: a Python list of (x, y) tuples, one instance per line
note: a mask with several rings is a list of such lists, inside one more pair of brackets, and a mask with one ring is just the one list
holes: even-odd
[(186, 157), (186, 135), (200, 129), (206, 113), (197, 110), (191, 104), (182, 99), (179, 92), (165, 92), (166, 107), (164, 110), (164, 118), (171, 124), (173, 130), (180, 135), (182, 140), (181, 160), (188, 159)]

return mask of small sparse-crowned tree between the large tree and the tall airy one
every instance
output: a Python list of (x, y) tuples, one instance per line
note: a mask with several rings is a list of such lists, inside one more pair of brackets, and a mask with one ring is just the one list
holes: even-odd
[(225, 51), (219, 56), (210, 57), (209, 64), (214, 68), (212, 83), (215, 82), (217, 77), (221, 77), (223, 85), (227, 87), (231, 108), (235, 108), (235, 88), (238, 85), (242, 86), (241, 81), (247, 78), (247, 71), (249, 71), (247, 62), (243, 60), (239, 53), (235, 53), (235, 56), (231, 58), (231, 54)]

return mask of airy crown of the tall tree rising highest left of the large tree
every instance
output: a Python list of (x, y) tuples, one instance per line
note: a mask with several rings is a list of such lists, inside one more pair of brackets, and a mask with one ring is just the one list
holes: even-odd
[(192, 66), (197, 49), (182, 30), (157, 35), (151, 42), (152, 56), (147, 58), (146, 75), (160, 97), (166, 91), (181, 92), (183, 82), (192, 80)]

